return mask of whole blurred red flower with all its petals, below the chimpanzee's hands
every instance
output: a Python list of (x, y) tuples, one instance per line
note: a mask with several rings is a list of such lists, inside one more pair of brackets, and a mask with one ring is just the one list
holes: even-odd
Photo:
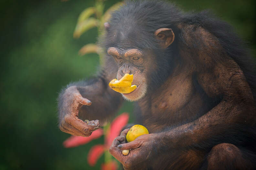
[[(110, 127), (107, 129), (107, 133), (105, 135), (105, 144), (104, 145), (95, 145), (93, 146), (87, 157), (87, 161), (89, 165), (94, 166), (100, 156), (103, 154), (104, 150), (108, 150), (112, 144), (112, 141), (120, 134), (120, 131), (123, 127), (128, 123), (129, 114), (123, 113), (117, 116), (111, 123)], [(79, 145), (84, 145), (90, 142), (93, 139), (99, 138), (103, 134), (102, 129), (95, 130), (92, 134), (88, 137), (82, 136), (71, 136), (67, 140), (63, 142), (64, 147), (76, 147)], [(108, 162), (101, 165), (102, 170), (116, 170), (117, 165), (115, 161)]]

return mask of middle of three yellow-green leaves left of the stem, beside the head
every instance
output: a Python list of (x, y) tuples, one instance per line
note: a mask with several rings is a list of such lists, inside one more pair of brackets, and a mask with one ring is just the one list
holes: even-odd
[(80, 35), (95, 26), (98, 26), (98, 20), (95, 18), (88, 18), (87, 20), (78, 23), (73, 34), (74, 38), (79, 38)]

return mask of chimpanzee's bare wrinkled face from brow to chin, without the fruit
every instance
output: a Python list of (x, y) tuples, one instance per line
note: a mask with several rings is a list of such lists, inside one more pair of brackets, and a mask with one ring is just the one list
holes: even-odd
[[(128, 94), (123, 94), (123, 97), (128, 100), (136, 101), (142, 98), (147, 91), (147, 76), (149, 58), (147, 53), (137, 48), (108, 48), (108, 54), (111, 55), (117, 63), (119, 69), (117, 79), (121, 79), (124, 74), (133, 74), (132, 85), (137, 85), (137, 88)], [(147, 57), (147, 58), (145, 58)]]

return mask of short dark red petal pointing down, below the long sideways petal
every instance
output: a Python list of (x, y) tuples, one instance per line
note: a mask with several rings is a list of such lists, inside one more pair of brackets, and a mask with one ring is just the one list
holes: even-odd
[(100, 158), (100, 156), (104, 152), (104, 145), (94, 145), (91, 147), (88, 156), (87, 161), (90, 166), (94, 166), (97, 162), (97, 160)]

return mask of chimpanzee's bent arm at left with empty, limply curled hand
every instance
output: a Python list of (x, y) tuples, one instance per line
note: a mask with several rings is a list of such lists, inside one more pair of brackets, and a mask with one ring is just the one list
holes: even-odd
[[(122, 96), (108, 86), (116, 77), (116, 65), (106, 62), (107, 67), (97, 77), (71, 83), (59, 94), (59, 127), (62, 131), (78, 136), (91, 135), (100, 125), (95, 119), (106, 119), (122, 104)], [(84, 122), (86, 119), (91, 121)]]

